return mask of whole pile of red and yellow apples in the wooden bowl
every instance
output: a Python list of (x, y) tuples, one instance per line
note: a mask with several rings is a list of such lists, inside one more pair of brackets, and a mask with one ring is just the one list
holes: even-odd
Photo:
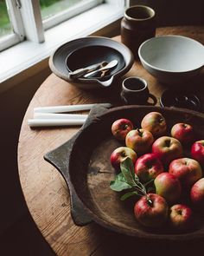
[[(193, 126), (187, 123), (175, 123), (169, 130), (170, 135), (158, 112), (145, 115), (141, 128), (133, 128), (128, 119), (114, 121), (112, 135), (125, 145), (112, 152), (111, 163), (119, 171), (127, 157), (132, 161), (139, 182), (136, 190), (142, 186), (144, 191), (137, 193), (134, 206), (140, 224), (187, 231), (194, 225), (194, 213), (204, 210), (204, 139), (197, 141)], [(153, 191), (145, 192), (150, 183)]]

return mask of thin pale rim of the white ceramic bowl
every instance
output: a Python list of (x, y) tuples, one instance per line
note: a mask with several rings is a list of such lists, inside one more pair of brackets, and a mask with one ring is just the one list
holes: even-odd
[[(165, 36), (155, 36), (155, 37), (151, 37), (150, 39), (148, 39), (148, 40), (146, 40), (146, 41), (144, 41), (143, 43), (141, 43), (141, 45), (139, 46), (139, 48), (138, 48), (138, 56), (139, 56), (139, 58), (140, 58), (140, 60), (142, 60), (147, 66), (149, 66), (151, 69), (156, 69), (156, 70), (158, 70), (158, 71), (163, 71), (163, 72), (167, 72), (167, 73), (177, 73), (177, 74), (181, 74), (181, 73), (187, 73), (187, 72), (189, 72), (189, 71), (194, 71), (194, 70), (197, 70), (197, 69), (201, 69), (203, 66), (204, 66), (204, 61), (203, 61), (203, 64), (201, 64), (201, 65), (199, 65), (198, 67), (196, 67), (196, 68), (194, 68), (194, 69), (187, 69), (187, 70), (183, 70), (183, 71), (176, 71), (176, 70), (174, 70), (174, 71), (172, 71), (172, 70), (168, 70), (168, 69), (160, 69), (160, 68), (156, 68), (156, 66), (153, 66), (153, 65), (151, 65), (149, 62), (146, 62), (144, 59), (143, 59), (143, 56), (141, 56), (141, 49), (143, 48), (143, 45), (145, 44), (145, 43), (148, 43), (149, 41), (151, 41), (151, 40), (155, 40), (156, 38), (161, 38), (161, 37), (180, 37), (180, 38), (182, 38), (182, 39), (185, 39), (185, 40), (188, 40), (188, 41), (192, 41), (192, 42), (194, 42), (194, 43), (197, 43), (198, 45), (200, 45), (201, 47), (203, 47), (204, 48), (204, 45), (202, 44), (202, 43), (200, 43), (200, 42), (198, 42), (198, 41), (196, 41), (196, 40), (194, 40), (193, 38), (190, 38), (190, 37), (188, 37), (188, 36), (179, 36), (179, 35), (165, 35)], [(203, 49), (204, 50), (204, 49)]]

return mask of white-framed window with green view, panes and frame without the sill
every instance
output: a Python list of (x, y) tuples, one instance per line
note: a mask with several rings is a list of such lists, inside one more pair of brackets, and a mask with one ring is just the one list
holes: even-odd
[(103, 0), (0, 0), (0, 51), (25, 39), (42, 43), (45, 40), (45, 30), (104, 2)]

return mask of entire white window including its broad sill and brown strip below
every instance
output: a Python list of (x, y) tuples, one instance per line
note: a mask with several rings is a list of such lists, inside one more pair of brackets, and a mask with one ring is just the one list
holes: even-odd
[[(74, 1), (72, 6), (61, 5), (71, 1)], [(40, 0), (0, 0), (10, 26), (8, 32), (0, 36), (0, 93), (47, 67), (49, 56), (61, 44), (79, 36), (93, 33), (106, 36), (118, 31), (125, 3), (128, 3), (125, 0), (52, 2), (45, 5)], [(59, 9), (55, 4), (59, 4)], [(3, 30), (2, 20), (0, 16)]]

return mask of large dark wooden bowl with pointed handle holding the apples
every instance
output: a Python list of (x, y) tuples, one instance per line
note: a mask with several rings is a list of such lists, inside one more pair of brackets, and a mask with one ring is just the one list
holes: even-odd
[(97, 222), (112, 231), (148, 240), (196, 240), (204, 237), (204, 217), (194, 230), (175, 234), (164, 226), (159, 230), (146, 229), (137, 223), (130, 202), (119, 200), (109, 183), (115, 171), (110, 163), (112, 150), (119, 142), (111, 134), (112, 122), (128, 118), (135, 127), (140, 126), (144, 115), (150, 111), (161, 112), (171, 128), (176, 122), (188, 122), (200, 138), (204, 138), (204, 115), (182, 108), (150, 106), (124, 106), (105, 109), (96, 105), (80, 131), (73, 139), (45, 155), (63, 175), (71, 195), (71, 213), (76, 225)]

